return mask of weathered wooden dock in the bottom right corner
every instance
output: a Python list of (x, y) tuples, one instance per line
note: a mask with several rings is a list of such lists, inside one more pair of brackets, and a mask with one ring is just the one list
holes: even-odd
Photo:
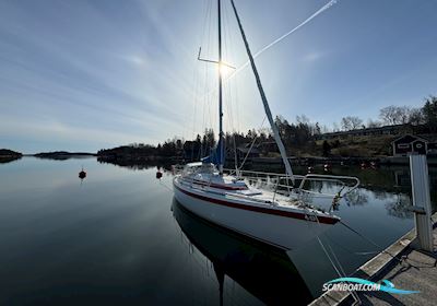
[(356, 292), (361, 304), (349, 292), (329, 291), (310, 306), (336, 305), (436, 305), (437, 304), (437, 213), (433, 215), (434, 254), (417, 250), (416, 231), (412, 229), (383, 252), (370, 259), (352, 275), (373, 282), (389, 280), (397, 289), (420, 291), (415, 294)]

